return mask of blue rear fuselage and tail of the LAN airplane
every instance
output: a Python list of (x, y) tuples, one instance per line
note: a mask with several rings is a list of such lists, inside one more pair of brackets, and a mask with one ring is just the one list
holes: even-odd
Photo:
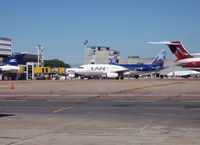
[(130, 71), (127, 71), (124, 73), (125, 76), (127, 75), (140, 75), (140, 74), (150, 74), (158, 72), (162, 69), (164, 69), (164, 61), (166, 58), (166, 50), (162, 49), (155, 59), (151, 62), (151, 64), (144, 64), (144, 63), (137, 63), (137, 64), (115, 64), (115, 61), (117, 57), (113, 57), (113, 60), (111, 61), (112, 64), (115, 64), (117, 66), (122, 66), (125, 68), (128, 68)]

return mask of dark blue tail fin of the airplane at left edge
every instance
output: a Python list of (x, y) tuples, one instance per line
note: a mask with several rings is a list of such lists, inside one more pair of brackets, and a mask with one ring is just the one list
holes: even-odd
[(5, 63), (5, 65), (13, 65), (17, 66), (19, 62), (24, 58), (26, 55), (25, 52), (18, 52), (18, 53), (13, 53), (11, 58)]

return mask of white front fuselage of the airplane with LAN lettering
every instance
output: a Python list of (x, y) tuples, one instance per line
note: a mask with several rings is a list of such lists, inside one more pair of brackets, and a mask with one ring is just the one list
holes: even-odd
[(106, 78), (118, 78), (123, 76), (124, 72), (127, 71), (129, 69), (112, 64), (86, 64), (79, 68), (66, 69), (66, 73), (69, 76), (75, 76), (77, 74), (81, 76), (103, 76)]

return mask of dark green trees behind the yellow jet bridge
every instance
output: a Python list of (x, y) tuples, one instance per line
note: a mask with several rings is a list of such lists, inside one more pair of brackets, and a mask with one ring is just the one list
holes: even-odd
[(65, 67), (65, 68), (70, 68), (69, 64), (66, 64), (63, 61), (58, 60), (58, 59), (44, 60), (44, 66), (45, 67)]

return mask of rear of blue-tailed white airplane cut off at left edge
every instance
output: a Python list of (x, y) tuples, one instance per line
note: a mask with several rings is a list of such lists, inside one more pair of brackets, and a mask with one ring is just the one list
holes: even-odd
[(18, 66), (18, 64), (25, 55), (26, 55), (25, 52), (13, 53), (11, 58), (7, 62), (5, 62), (2, 66), (0, 66), (0, 73), (6, 72), (6, 71), (19, 70), (20, 67)]

